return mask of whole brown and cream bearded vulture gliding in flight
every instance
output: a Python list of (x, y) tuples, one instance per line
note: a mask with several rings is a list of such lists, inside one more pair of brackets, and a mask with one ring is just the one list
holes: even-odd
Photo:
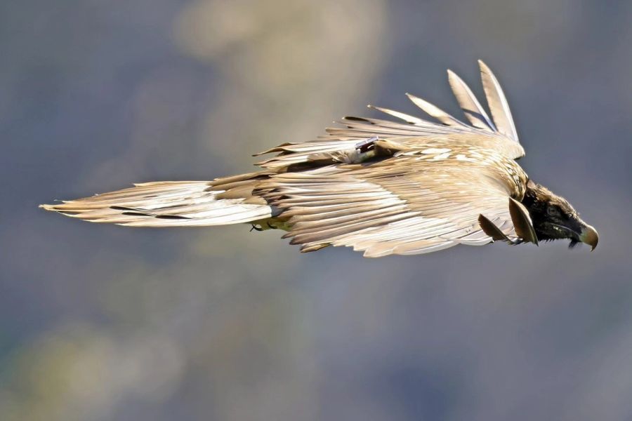
[(593, 250), (597, 231), (516, 162), (525, 150), (507, 100), (489, 67), (479, 65), (491, 116), (448, 70), (467, 122), (407, 94), (436, 121), (372, 107), (398, 121), (344, 117), (316, 140), (256, 154), (275, 155), (254, 173), (145, 182), (41, 207), (129, 227), (282, 229), (303, 252), (349, 246), (371, 258), (493, 241), (568, 239), (570, 247)]

